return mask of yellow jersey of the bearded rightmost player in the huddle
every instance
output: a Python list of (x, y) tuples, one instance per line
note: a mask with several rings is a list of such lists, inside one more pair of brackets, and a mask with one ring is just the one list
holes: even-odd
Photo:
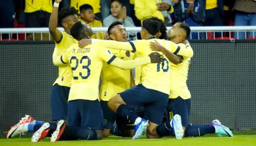
[[(190, 45), (178, 44), (180, 47), (186, 47), (192, 50)], [(191, 94), (188, 90), (187, 79), (188, 79), (188, 69), (190, 66), (189, 57), (183, 57), (183, 61), (179, 64), (170, 63), (170, 73), (171, 73), (171, 90), (169, 99), (176, 99), (177, 97), (182, 97), (182, 99), (190, 99)]]

